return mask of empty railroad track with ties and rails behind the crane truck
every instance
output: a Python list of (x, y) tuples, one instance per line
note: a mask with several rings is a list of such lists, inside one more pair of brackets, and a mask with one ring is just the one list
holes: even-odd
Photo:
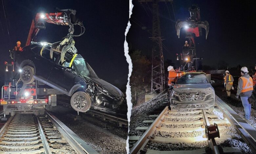
[(51, 113), (16, 114), (0, 130), (0, 153), (97, 153)]

